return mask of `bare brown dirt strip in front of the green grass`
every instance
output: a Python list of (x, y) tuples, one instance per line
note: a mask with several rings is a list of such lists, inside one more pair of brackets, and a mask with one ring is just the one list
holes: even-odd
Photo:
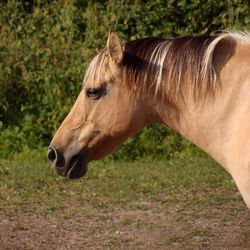
[(2, 213), (0, 249), (250, 249), (250, 211), (234, 220), (229, 212), (221, 206), (194, 215), (145, 201), (93, 208), (79, 201), (49, 216)]

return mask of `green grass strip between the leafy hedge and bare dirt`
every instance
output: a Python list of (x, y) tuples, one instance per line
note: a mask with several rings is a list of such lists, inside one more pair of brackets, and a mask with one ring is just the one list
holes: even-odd
[[(0, 173), (2, 209), (9, 213), (37, 207), (46, 215), (72, 200), (87, 201), (94, 209), (107, 210), (112, 203), (126, 206), (128, 201), (140, 199), (160, 199), (163, 205), (176, 203), (176, 212), (180, 212), (241, 199), (229, 174), (209, 158), (98, 161), (90, 164), (84, 178), (71, 181), (53, 171), (45, 154), (29, 152), (15, 160), (0, 160)], [(148, 209), (145, 205), (135, 206)]]

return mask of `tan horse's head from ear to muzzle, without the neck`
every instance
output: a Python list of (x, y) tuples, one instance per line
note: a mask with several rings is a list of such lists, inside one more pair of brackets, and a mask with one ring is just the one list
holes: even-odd
[(89, 161), (111, 153), (148, 123), (146, 97), (124, 84), (123, 57), (123, 44), (110, 31), (107, 47), (90, 63), (83, 88), (49, 146), (48, 159), (58, 174), (83, 176)]

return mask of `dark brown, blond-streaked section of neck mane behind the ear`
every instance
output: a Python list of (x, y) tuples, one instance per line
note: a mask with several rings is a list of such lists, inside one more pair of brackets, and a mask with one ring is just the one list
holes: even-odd
[(212, 64), (208, 65), (207, 72), (203, 72), (203, 67), (205, 52), (215, 38), (208, 35), (174, 39), (149, 37), (126, 42), (124, 79), (131, 88), (144, 86), (156, 92), (165, 89), (169, 97), (182, 94), (182, 86), (187, 82), (195, 96), (202, 90), (213, 92), (216, 72)]

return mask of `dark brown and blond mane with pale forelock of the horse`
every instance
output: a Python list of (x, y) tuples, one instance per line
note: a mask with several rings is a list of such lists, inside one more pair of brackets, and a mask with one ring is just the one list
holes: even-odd
[[(250, 36), (231, 32), (215, 36), (147, 37), (125, 42), (121, 62), (123, 81), (138, 93), (153, 89), (156, 96), (163, 90), (161, 93), (164, 92), (171, 102), (183, 95), (184, 86), (192, 91), (194, 98), (214, 94), (220, 79), (213, 55), (222, 40), (235, 46), (239, 41), (250, 42)], [(90, 77), (97, 82), (103, 81), (108, 75), (107, 69), (103, 69), (106, 58), (107, 48), (93, 59), (84, 82)]]

